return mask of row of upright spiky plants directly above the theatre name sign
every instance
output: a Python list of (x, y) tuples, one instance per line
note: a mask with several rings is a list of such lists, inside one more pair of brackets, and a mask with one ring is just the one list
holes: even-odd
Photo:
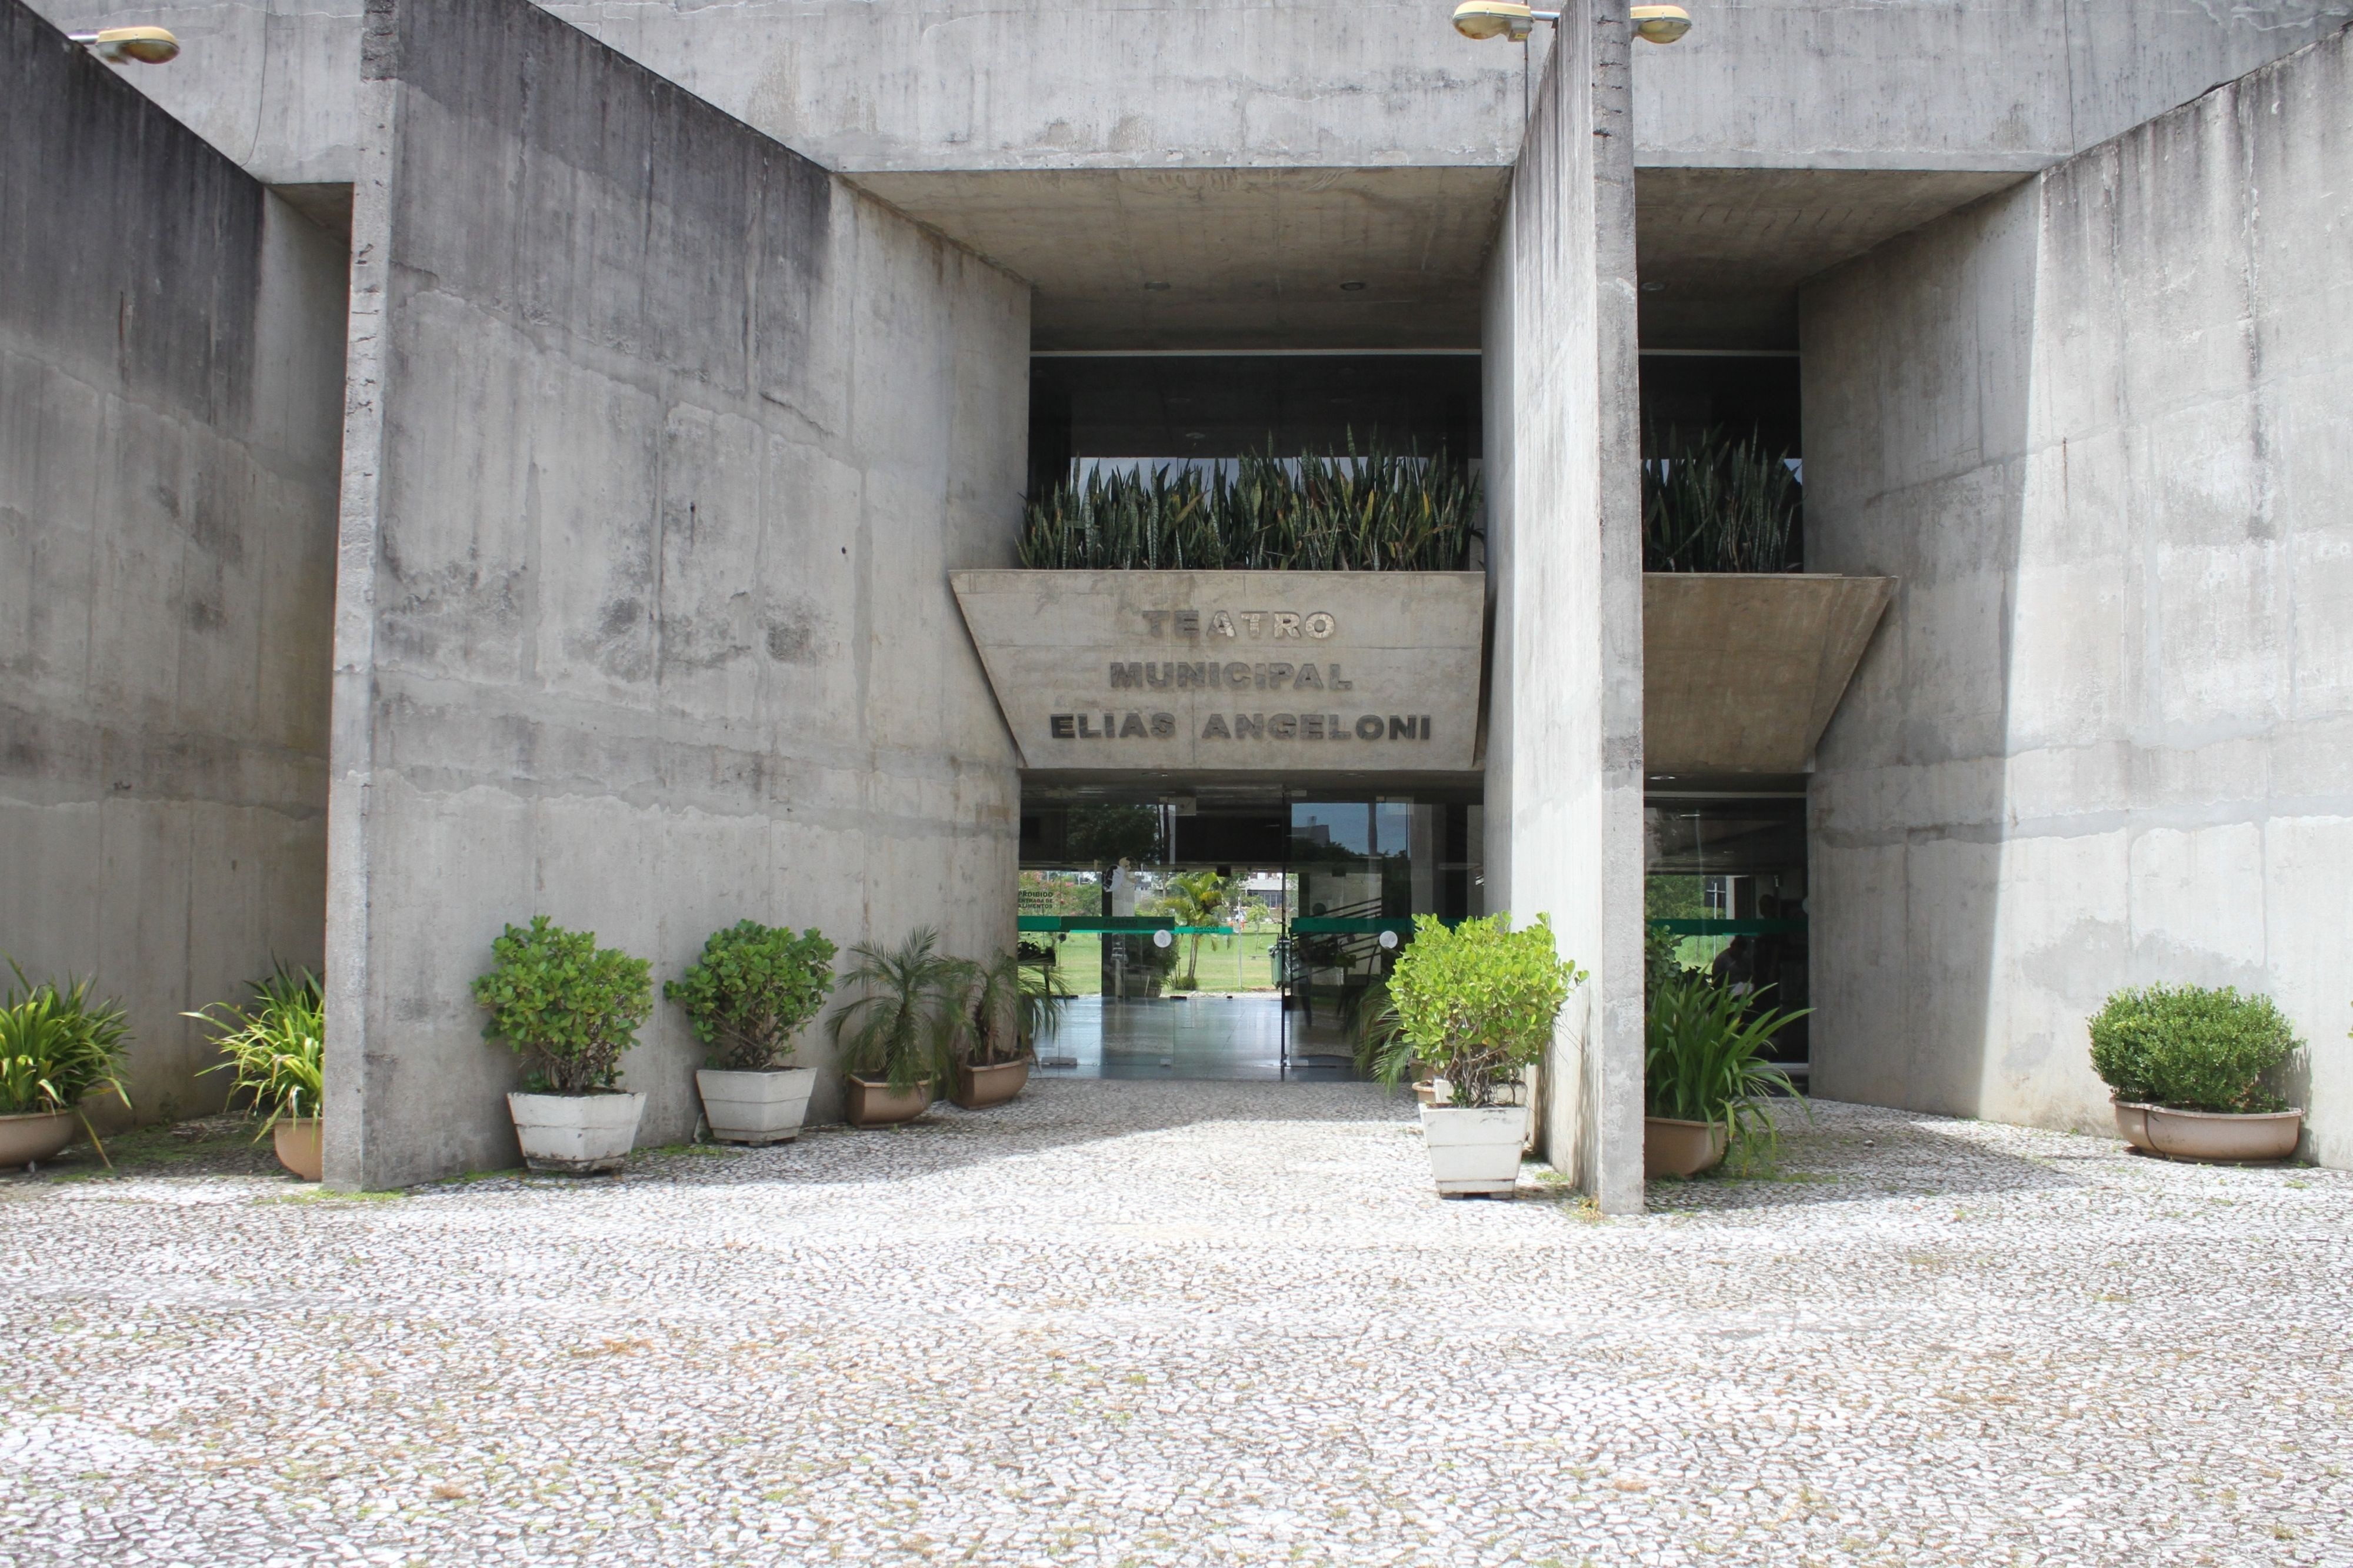
[(1372, 443), (1355, 452), (1249, 452), (1202, 476), (1094, 469), (1031, 504), (1026, 567), (1461, 572), (1480, 537), (1471, 464)]

